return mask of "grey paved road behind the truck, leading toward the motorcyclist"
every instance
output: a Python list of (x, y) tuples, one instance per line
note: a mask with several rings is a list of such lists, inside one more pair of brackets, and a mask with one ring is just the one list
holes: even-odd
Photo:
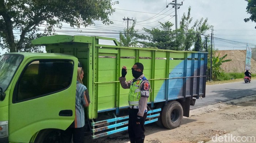
[(215, 103), (225, 102), (232, 99), (237, 99), (245, 96), (256, 94), (256, 80), (251, 83), (245, 84), (244, 81), (229, 83), (229, 84), (218, 84), (218, 85), (207, 85), (206, 86), (206, 97), (199, 98), (196, 100), (195, 106), (191, 106), (190, 109), (196, 109), (207, 105), (213, 105)]

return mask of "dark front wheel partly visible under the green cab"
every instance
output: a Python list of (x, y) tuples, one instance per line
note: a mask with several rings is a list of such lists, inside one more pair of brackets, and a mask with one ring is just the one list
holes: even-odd
[(45, 129), (41, 130), (34, 143), (61, 143), (60, 130), (57, 129)]

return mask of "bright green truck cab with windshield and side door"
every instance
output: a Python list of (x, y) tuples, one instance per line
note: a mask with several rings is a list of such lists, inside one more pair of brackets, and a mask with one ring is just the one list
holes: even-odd
[(34, 142), (45, 128), (65, 130), (75, 119), (77, 68), (71, 55), (2, 55), (0, 142)]

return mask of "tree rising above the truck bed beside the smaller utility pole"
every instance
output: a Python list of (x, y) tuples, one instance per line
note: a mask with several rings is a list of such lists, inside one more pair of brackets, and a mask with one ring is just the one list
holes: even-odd
[(136, 47), (138, 46), (138, 38), (136, 37), (136, 33), (138, 30), (135, 30), (134, 27), (136, 25), (136, 22), (132, 23), (132, 26), (130, 28), (125, 28), (124, 32), (119, 33), (119, 44), (121, 46), (127, 46), (127, 47)]

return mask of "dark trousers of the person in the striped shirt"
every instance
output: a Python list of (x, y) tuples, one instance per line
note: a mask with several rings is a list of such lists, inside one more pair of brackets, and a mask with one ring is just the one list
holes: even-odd
[(61, 132), (61, 143), (70, 143), (73, 135), (73, 143), (84, 143), (84, 127), (74, 128), (71, 124), (67, 130)]

